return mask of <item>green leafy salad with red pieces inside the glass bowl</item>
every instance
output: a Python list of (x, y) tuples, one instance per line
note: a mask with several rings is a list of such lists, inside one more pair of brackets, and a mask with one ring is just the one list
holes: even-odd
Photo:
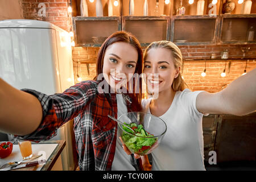
[[(133, 153), (144, 155), (150, 150), (152, 145), (156, 142), (157, 138), (154, 135), (151, 135), (147, 131), (143, 129), (142, 125), (138, 125), (136, 123), (124, 123), (126, 126), (129, 126), (131, 129), (135, 131), (134, 135), (129, 135), (125, 132), (122, 133), (122, 140), (125, 143), (126, 147)], [(128, 129), (126, 126), (123, 126), (123, 130), (127, 131), (128, 133), (134, 134), (133, 131)], [(152, 137), (152, 138), (141, 138), (141, 137)]]

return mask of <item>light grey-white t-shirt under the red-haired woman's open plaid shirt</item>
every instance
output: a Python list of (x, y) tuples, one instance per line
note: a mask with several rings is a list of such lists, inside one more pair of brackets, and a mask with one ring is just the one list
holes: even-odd
[[(117, 94), (117, 117), (127, 113), (127, 106), (122, 94)], [(119, 127), (118, 127), (119, 130)], [(115, 146), (115, 155), (112, 163), (112, 171), (135, 171), (133, 167), (133, 158), (131, 155), (127, 155), (123, 150), (122, 142), (119, 139), (120, 135), (117, 130), (117, 144)]]

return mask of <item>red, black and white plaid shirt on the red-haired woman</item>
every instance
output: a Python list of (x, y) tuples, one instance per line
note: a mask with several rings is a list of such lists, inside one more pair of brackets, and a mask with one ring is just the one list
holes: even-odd
[[(76, 148), (80, 170), (111, 170), (117, 140), (117, 100), (115, 94), (99, 93), (98, 82), (82, 81), (63, 93), (50, 96), (31, 89), (22, 89), (33, 94), (43, 108), (43, 119), (36, 131), (25, 136), (26, 140), (48, 140), (56, 135), (57, 129), (74, 119)], [(131, 94), (123, 94), (127, 110), (139, 111), (141, 106)], [(131, 104), (133, 102), (133, 104)], [(134, 159), (134, 157), (133, 157)], [(139, 170), (141, 160), (134, 159)]]

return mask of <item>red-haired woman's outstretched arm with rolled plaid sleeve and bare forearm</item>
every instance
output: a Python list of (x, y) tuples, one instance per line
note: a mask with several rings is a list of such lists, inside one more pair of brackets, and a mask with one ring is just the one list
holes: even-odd
[(3, 80), (0, 85), (0, 130), (26, 140), (50, 139), (60, 126), (84, 112), (97, 94), (95, 81), (82, 81), (52, 95), (17, 90)]

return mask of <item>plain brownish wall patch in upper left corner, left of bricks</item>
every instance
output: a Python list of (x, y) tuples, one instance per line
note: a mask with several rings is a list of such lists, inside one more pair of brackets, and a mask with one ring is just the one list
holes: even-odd
[(0, 0), (0, 20), (23, 19), (21, 0)]

